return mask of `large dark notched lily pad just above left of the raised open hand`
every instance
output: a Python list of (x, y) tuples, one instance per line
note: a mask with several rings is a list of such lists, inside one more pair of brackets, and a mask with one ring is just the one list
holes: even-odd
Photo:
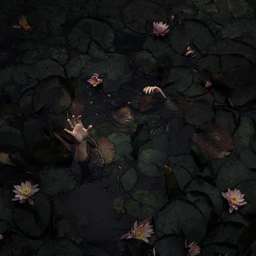
[(68, 84), (60, 76), (50, 76), (42, 80), (37, 85), (32, 99), (35, 112), (51, 104), (56, 115), (69, 108), (71, 102), (72, 97)]

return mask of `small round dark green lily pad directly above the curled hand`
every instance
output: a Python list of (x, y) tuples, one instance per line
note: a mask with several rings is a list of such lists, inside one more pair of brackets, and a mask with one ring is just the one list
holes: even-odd
[(150, 73), (157, 65), (155, 58), (152, 53), (147, 50), (141, 50), (135, 52), (132, 57), (132, 68), (141, 66), (145, 74)]

